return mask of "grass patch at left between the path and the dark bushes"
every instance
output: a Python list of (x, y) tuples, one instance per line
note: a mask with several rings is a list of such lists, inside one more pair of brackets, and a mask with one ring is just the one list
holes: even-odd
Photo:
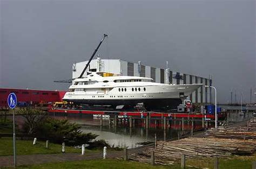
[[(49, 143), (49, 149), (45, 148), (45, 142), (37, 141), (36, 145), (32, 145), (33, 140), (16, 140), (16, 151), (17, 155), (28, 155), (28, 154), (52, 154), (61, 153), (62, 145)], [(12, 156), (13, 145), (12, 138), (3, 137), (0, 138), (0, 156)], [(91, 152), (92, 150), (86, 150)], [(80, 149), (75, 147), (65, 146), (66, 153), (80, 153)], [(93, 151), (95, 152), (95, 151)]]

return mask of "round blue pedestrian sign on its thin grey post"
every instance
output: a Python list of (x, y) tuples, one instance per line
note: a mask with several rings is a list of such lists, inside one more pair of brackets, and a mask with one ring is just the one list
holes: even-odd
[(12, 109), (13, 111), (13, 115), (12, 115), (12, 123), (13, 123), (13, 128), (14, 128), (14, 167), (16, 167), (16, 136), (15, 136), (15, 107), (17, 105), (17, 97), (15, 95), (15, 93), (10, 93), (8, 98), (7, 98), (7, 102), (8, 105), (10, 107), (10, 109)]

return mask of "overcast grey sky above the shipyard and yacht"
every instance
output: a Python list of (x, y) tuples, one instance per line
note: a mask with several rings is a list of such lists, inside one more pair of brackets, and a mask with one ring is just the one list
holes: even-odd
[[(104, 33), (103, 59), (213, 78), (219, 103), (256, 92), (255, 1), (0, 0), (0, 88), (67, 90)], [(234, 99), (234, 96), (233, 96)], [(253, 98), (256, 100), (255, 98)]]

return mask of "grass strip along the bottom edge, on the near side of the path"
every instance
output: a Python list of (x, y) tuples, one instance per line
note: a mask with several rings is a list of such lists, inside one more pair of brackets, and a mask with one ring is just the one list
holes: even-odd
[[(252, 168), (252, 161), (255, 161), (254, 156), (234, 156), (232, 158), (220, 158), (220, 169), (236, 169), (236, 168)], [(187, 159), (186, 168), (213, 168), (213, 158), (198, 158)], [(114, 159), (99, 159), (99, 160), (81, 160), (81, 161), (66, 161), (59, 163), (46, 163), (37, 165), (23, 165), (17, 168), (180, 168), (179, 161), (170, 166), (151, 166), (149, 164), (142, 164), (136, 161), (123, 161)]]

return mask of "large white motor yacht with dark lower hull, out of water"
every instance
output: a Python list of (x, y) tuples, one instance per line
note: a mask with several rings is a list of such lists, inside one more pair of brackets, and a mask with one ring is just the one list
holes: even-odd
[(76, 104), (124, 105), (134, 107), (144, 103), (147, 110), (170, 110), (203, 84), (172, 85), (153, 82), (151, 78), (115, 76), (104, 72), (90, 72), (75, 79), (63, 100)]

